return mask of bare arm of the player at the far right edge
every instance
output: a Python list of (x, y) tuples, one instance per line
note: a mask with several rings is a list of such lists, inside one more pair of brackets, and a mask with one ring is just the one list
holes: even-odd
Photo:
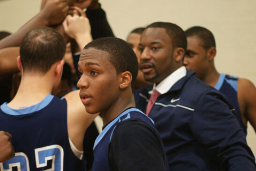
[(239, 78), (237, 95), (243, 121), (248, 120), (256, 131), (256, 87), (249, 80)]

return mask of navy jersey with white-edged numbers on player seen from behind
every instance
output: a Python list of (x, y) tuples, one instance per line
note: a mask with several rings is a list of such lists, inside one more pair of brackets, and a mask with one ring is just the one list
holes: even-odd
[(82, 171), (84, 161), (70, 148), (67, 101), (47, 95), (19, 110), (0, 106), (0, 130), (12, 134), (15, 157), (0, 163), (0, 171)]

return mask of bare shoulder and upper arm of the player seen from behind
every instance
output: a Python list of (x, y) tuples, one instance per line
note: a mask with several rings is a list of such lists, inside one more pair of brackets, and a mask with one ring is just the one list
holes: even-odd
[(79, 96), (79, 90), (65, 96), (68, 103), (68, 136), (78, 150), (83, 150), (83, 137), (86, 129), (98, 114), (89, 114)]

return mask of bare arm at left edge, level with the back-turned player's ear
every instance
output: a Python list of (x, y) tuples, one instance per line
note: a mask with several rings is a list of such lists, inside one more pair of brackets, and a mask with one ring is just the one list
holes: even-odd
[(19, 54), (20, 47), (0, 49), (0, 76), (19, 72), (16, 60)]

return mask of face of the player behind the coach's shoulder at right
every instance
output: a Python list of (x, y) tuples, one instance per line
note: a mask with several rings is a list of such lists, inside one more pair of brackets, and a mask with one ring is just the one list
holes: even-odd
[(207, 67), (207, 51), (200, 45), (200, 39), (197, 36), (187, 37), (188, 47), (183, 64), (188, 70), (194, 71), (198, 78), (203, 78)]

